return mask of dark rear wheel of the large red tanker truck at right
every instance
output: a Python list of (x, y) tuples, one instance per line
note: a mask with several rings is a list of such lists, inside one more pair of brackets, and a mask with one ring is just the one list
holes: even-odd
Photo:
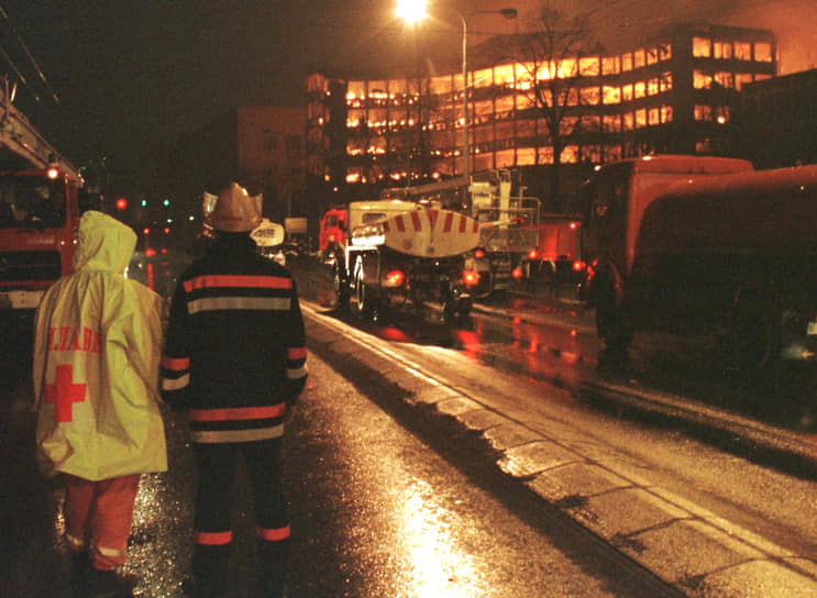
[(761, 297), (738, 298), (729, 318), (727, 350), (735, 367), (751, 374), (769, 370), (781, 350), (777, 302)]

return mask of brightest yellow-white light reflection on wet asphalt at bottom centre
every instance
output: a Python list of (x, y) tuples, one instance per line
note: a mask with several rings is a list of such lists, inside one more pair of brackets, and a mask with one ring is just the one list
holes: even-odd
[(416, 480), (404, 492), (402, 534), (415, 586), (411, 595), (435, 598), (482, 595), (473, 582), (466, 582), (478, 578), (477, 567), (456, 549), (452, 513), (434, 503), (432, 490), (423, 481)]

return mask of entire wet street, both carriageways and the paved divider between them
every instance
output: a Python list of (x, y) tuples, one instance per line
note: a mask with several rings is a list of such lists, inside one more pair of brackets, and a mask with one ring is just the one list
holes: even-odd
[[(332, 306), (320, 270), (292, 269), (310, 378), (285, 440), (290, 597), (813, 595), (810, 428), (774, 427), (779, 411), (757, 405), (718, 410), (733, 399), (705, 372), (686, 384), (711, 402), (672, 395), (694, 418), (618, 400), (614, 388), (669, 405), (628, 376), (649, 370), (659, 341), (610, 373), (571, 303), (486, 304), (452, 326), (433, 306), (424, 321), (369, 322)], [(672, 358), (694, 361), (683, 348)], [(59, 598), (60, 492), (35, 473), (19, 362), (2, 391), (0, 587)], [(801, 421), (805, 405), (788, 403)], [(137, 596), (183, 597), (189, 577), (190, 450), (181, 430), (167, 439), (170, 470), (145, 476), (137, 498), (126, 565)], [(249, 597), (246, 491), (234, 511), (231, 572)]]

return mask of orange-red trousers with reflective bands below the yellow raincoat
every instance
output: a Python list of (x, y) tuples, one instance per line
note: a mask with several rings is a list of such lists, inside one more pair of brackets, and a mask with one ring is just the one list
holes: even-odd
[(63, 474), (65, 539), (73, 553), (88, 551), (91, 565), (112, 569), (124, 565), (140, 474), (100, 481)]

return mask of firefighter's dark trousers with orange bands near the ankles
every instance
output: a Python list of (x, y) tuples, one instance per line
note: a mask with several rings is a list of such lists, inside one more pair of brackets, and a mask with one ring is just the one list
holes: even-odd
[(241, 456), (255, 505), (260, 596), (281, 596), (289, 555), (289, 516), (280, 488), (280, 439), (194, 447), (198, 489), (192, 574), (197, 596), (218, 597), (227, 591), (230, 511)]

